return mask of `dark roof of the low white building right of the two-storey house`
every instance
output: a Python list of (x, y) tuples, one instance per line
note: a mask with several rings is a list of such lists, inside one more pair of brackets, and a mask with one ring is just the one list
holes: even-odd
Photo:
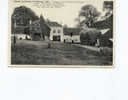
[(79, 35), (80, 29), (79, 28), (64, 28), (63, 29), (64, 35)]

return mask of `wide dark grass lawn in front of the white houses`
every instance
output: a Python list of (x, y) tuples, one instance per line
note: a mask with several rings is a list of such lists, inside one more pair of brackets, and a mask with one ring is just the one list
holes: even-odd
[(112, 56), (77, 45), (45, 41), (19, 40), (11, 46), (11, 64), (22, 65), (112, 65)]

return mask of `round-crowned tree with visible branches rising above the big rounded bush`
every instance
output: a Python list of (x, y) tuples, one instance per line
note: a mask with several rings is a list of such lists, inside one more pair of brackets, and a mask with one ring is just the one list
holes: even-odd
[(91, 27), (94, 21), (97, 20), (99, 17), (100, 13), (97, 11), (97, 9), (92, 6), (92, 5), (85, 5), (81, 8), (79, 12), (79, 17), (83, 16), (85, 17), (84, 23), (88, 26)]

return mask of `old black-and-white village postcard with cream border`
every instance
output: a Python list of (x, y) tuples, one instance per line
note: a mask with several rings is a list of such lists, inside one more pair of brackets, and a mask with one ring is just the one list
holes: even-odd
[(9, 0), (10, 67), (114, 66), (114, 0)]

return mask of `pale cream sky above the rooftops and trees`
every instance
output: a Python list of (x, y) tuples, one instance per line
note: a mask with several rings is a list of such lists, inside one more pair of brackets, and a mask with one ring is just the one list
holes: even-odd
[[(15, 7), (24, 5), (30, 7), (38, 16), (42, 14), (45, 19), (56, 21), (62, 25), (67, 24), (68, 27), (75, 27), (77, 24), (75, 19), (78, 17), (79, 11), (82, 6), (91, 4), (94, 7), (96, 7), (98, 11), (102, 13), (104, 0), (47, 0), (50, 1), (48, 3), (46, 3), (47, 2), (46, 0), (45, 1), (38, 0), (38, 1), (43, 1), (38, 3), (21, 2), (25, 0), (17, 0), (17, 1), (20, 2), (14, 2), (14, 0), (10, 0), (9, 10), (11, 13), (15, 9)], [(37, 0), (27, 0), (27, 1), (37, 1)], [(55, 3), (55, 1), (57, 1), (57, 3)], [(46, 4), (48, 4), (47, 7)], [(56, 4), (57, 7), (55, 6)], [(51, 5), (53, 8), (51, 8)]]

